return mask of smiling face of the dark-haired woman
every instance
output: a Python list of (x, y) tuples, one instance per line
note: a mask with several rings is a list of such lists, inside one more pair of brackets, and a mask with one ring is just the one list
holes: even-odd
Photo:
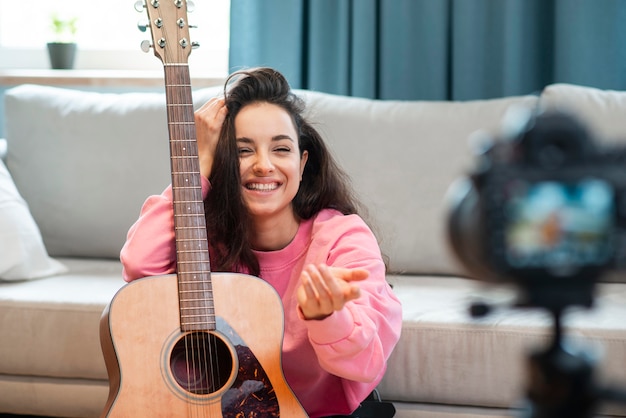
[(252, 218), (293, 221), (291, 201), (300, 187), (307, 152), (300, 156), (293, 120), (267, 102), (249, 104), (235, 117), (242, 195)]

